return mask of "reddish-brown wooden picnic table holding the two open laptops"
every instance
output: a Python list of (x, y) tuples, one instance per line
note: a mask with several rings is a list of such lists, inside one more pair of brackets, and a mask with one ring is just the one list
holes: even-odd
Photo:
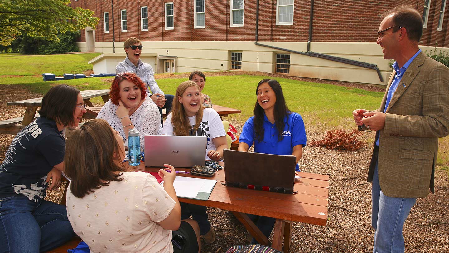
[[(223, 163), (220, 163), (223, 166)], [(139, 166), (129, 166), (134, 171), (157, 172), (160, 167), (145, 167), (141, 162)], [(189, 171), (189, 168), (175, 168), (177, 171)], [(177, 174), (177, 176), (197, 177), (192, 174)], [(212, 208), (220, 208), (231, 211), (235, 217), (245, 226), (250, 234), (260, 244), (269, 245), (269, 240), (259, 230), (247, 213), (276, 218), (274, 225), (273, 243), (271, 247), (282, 251), (282, 239), (284, 240), (284, 252), (289, 252), (291, 240), (291, 222), (326, 226), (327, 207), (329, 194), (329, 176), (299, 172), (301, 178), (295, 179), (296, 194), (282, 194), (259, 190), (233, 188), (222, 185), (225, 183), (225, 171), (219, 170), (207, 179), (216, 180), (217, 183), (208, 200), (179, 198), (180, 202), (192, 203)], [(67, 190), (68, 183), (66, 184)], [(66, 204), (66, 190), (61, 204)], [(65, 253), (69, 248), (75, 248), (79, 238), (74, 237), (66, 244), (48, 251), (48, 253)]]

